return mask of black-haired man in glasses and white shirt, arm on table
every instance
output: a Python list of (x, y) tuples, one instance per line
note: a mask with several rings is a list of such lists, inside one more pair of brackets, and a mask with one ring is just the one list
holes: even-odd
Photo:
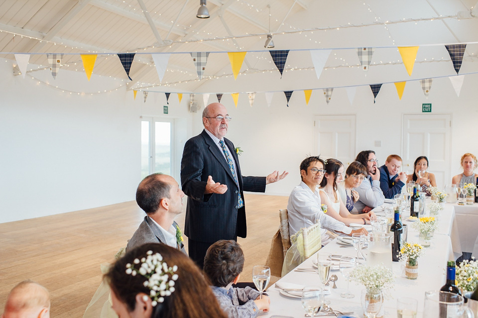
[(320, 221), (322, 227), (322, 245), (330, 240), (327, 229), (347, 235), (352, 235), (352, 233), (366, 235), (367, 231), (364, 228), (353, 230), (322, 211), (318, 186), (325, 172), (324, 160), (318, 156), (308, 157), (301, 162), (300, 176), (302, 182), (292, 190), (287, 204), (290, 235), (297, 233), (302, 227), (315, 224), (316, 220)]

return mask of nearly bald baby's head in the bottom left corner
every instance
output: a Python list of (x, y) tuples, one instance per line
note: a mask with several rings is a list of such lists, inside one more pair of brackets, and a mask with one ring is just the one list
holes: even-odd
[(8, 294), (1, 318), (49, 318), (50, 294), (38, 283), (20, 282)]

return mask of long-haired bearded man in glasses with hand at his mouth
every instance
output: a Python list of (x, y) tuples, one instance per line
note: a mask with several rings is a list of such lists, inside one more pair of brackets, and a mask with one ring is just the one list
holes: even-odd
[(359, 193), (359, 200), (354, 204), (354, 210), (359, 213), (368, 213), (375, 207), (381, 206), (385, 200), (380, 189), (380, 170), (375, 151), (360, 151), (355, 161), (367, 168), (368, 176), (355, 190)]

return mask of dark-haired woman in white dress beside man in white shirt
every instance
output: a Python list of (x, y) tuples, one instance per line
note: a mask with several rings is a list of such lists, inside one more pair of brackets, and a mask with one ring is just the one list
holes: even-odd
[(320, 183), (319, 195), (321, 202), (327, 205), (327, 214), (344, 222), (347, 226), (350, 223), (370, 224), (370, 217), (375, 216), (375, 213), (352, 214), (340, 198), (337, 183), (344, 180), (342, 162), (337, 159), (328, 159), (325, 161), (324, 168), (327, 172)]

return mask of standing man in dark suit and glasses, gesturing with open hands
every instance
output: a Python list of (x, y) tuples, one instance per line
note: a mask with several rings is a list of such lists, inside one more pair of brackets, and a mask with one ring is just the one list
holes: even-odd
[(243, 191), (265, 192), (265, 185), (287, 172), (267, 177), (243, 177), (234, 144), (224, 138), (231, 120), (226, 107), (213, 103), (204, 108), (204, 130), (184, 145), (181, 185), (188, 196), (185, 234), (189, 257), (200, 268), (214, 242), (246, 236)]

